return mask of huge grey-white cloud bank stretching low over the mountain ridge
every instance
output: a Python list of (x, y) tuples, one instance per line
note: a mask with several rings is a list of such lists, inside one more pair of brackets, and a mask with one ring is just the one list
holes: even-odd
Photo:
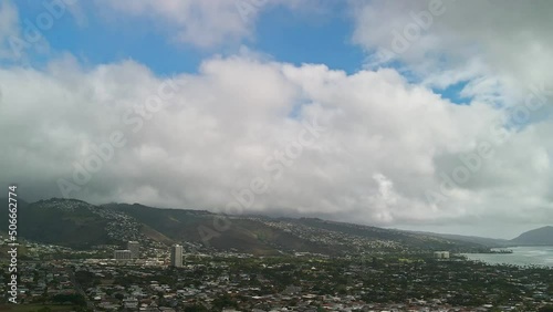
[[(542, 206), (549, 216), (546, 126), (515, 134), (431, 205), (427, 191), (440, 191), (440, 174), (451, 175), (477, 142), (492, 142), (490, 126), (503, 113), (453, 105), (394, 70), (346, 75), (240, 55), (171, 81), (132, 61), (85, 70), (70, 58), (44, 72), (1, 71), (0, 124), (13, 134), (1, 142), (3, 183), (48, 197), (63, 194), (64, 179), (79, 186), (67, 188), (71, 197), (96, 202), (225, 210), (259, 177), (268, 189), (243, 211), (384, 226), (469, 221), (504, 209), (514, 221), (528, 212), (521, 207)], [(156, 104), (152, 96), (164, 85), (167, 101)], [(314, 144), (278, 160), (314, 119), (324, 127)], [(95, 171), (87, 162), (108, 154), (97, 150), (114, 132), (125, 144)], [(91, 174), (83, 185), (74, 178), (80, 166)]]

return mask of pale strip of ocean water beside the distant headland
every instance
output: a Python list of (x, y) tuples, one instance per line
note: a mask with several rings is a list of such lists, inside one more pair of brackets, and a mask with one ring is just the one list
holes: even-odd
[(553, 246), (511, 247), (513, 253), (465, 253), (470, 260), (490, 264), (544, 266), (553, 268)]

